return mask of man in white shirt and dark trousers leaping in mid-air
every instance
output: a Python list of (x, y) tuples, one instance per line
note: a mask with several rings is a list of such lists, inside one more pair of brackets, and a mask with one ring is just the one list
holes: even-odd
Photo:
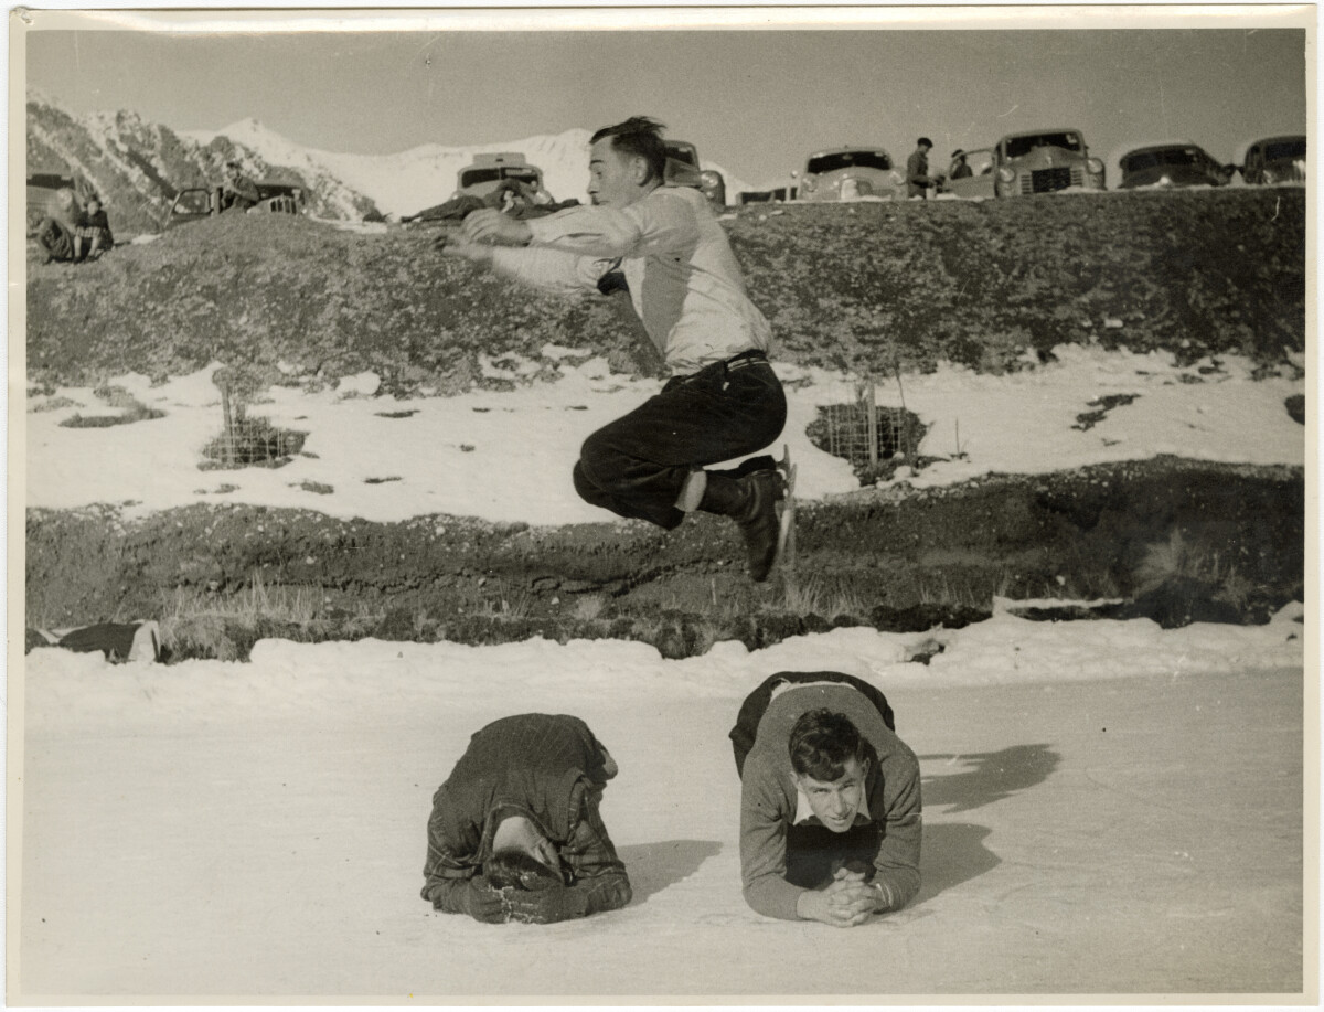
[(621, 268), (671, 379), (585, 440), (575, 489), (594, 506), (666, 530), (694, 510), (731, 517), (749, 575), (765, 580), (777, 554), (782, 474), (768, 456), (706, 468), (768, 446), (785, 425), (785, 393), (767, 356), (772, 332), (704, 196), (663, 185), (661, 131), (633, 117), (593, 135), (592, 207), (524, 221), (475, 211), (463, 241), (442, 252), (560, 291), (598, 289)]

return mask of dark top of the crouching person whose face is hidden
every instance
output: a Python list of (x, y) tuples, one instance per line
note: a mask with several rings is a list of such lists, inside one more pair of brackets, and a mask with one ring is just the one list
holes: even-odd
[(527, 816), (553, 844), (584, 913), (630, 901), (625, 865), (598, 816), (606, 750), (577, 717), (520, 714), (474, 734), (432, 799), (424, 899), (463, 913), (463, 893), (491, 856), (499, 816)]

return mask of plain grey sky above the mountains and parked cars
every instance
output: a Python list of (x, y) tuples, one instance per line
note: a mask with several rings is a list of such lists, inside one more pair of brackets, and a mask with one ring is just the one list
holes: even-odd
[[(1035, 8), (1045, 13), (1014, 30), (986, 16), (977, 30), (960, 28), (968, 20), (937, 29), (935, 11), (912, 15), (929, 28), (837, 30), (756, 30), (748, 12), (733, 30), (512, 30), (536, 17), (510, 12), (520, 17), (500, 23), (511, 30), (483, 32), (437, 17), (279, 25), (298, 32), (233, 20), (201, 26), (250, 30), (159, 30), (181, 23), (114, 15), (83, 23), (97, 30), (73, 30), (38, 17), (26, 79), (74, 113), (127, 109), (175, 130), (252, 117), (299, 144), (354, 154), (514, 140), (646, 114), (755, 183), (839, 144), (904, 158), (920, 135), (940, 160), (1005, 132), (1071, 126), (1100, 158), (1132, 140), (1185, 138), (1230, 162), (1249, 140), (1307, 128), (1303, 28), (1116, 29), (1116, 16), (1099, 13), (1107, 8)], [(681, 16), (670, 12), (667, 24)], [(1100, 26), (1076, 26), (1091, 20)], [(158, 30), (103, 30), (120, 24)], [(339, 30), (369, 25), (418, 30)]]

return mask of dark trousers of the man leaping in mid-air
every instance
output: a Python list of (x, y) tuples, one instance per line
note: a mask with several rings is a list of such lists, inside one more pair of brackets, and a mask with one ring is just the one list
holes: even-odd
[(767, 362), (731, 362), (673, 376), (659, 393), (589, 436), (575, 465), (580, 497), (671, 530), (685, 519), (675, 501), (690, 472), (776, 440), (786, 424), (781, 381)]

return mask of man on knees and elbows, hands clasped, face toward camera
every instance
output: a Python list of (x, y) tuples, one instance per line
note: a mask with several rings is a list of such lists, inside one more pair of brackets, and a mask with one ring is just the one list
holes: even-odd
[(837, 672), (782, 672), (731, 730), (740, 872), (760, 914), (837, 927), (919, 891), (919, 760), (887, 699)]

